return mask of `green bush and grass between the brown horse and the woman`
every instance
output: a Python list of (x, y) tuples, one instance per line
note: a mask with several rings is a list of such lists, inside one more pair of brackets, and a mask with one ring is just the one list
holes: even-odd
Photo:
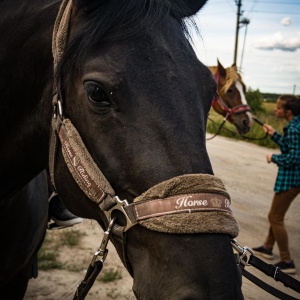
[[(287, 124), (284, 120), (279, 120), (275, 117), (274, 107), (279, 95), (275, 94), (262, 94), (259, 90), (248, 89), (246, 99), (251, 107), (252, 114), (262, 123), (269, 124), (278, 132), (282, 133), (283, 127)], [(206, 131), (215, 134), (218, 132), (220, 125), (223, 122), (223, 117), (217, 114), (213, 109), (210, 110), (209, 119), (207, 122)], [(262, 126), (253, 122), (253, 127), (249, 133), (242, 137), (238, 134), (236, 128), (228, 121), (223, 126), (221, 136), (243, 140), (245, 142), (257, 144), (267, 148), (277, 148), (278, 146), (273, 143), (269, 136), (266, 136)]]

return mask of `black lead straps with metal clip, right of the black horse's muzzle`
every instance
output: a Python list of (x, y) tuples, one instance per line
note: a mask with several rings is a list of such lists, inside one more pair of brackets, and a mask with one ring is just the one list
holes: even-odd
[(280, 268), (275, 267), (273, 265), (265, 263), (263, 260), (256, 257), (253, 251), (247, 247), (242, 247), (236, 239), (231, 240), (231, 245), (234, 250), (237, 252), (237, 264), (242, 270), (243, 276), (248, 278), (254, 284), (259, 286), (261, 289), (265, 290), (266, 292), (270, 293), (271, 295), (282, 299), (282, 300), (299, 300), (299, 298), (294, 298), (284, 292), (279, 291), (278, 289), (270, 286), (269, 284), (265, 283), (261, 279), (257, 278), (250, 272), (248, 272), (245, 267), (252, 266), (267, 276), (272, 277), (275, 281), (279, 281), (284, 284), (284, 286), (291, 288), (292, 290), (300, 293), (300, 282), (296, 280), (294, 277), (285, 274), (280, 270)]

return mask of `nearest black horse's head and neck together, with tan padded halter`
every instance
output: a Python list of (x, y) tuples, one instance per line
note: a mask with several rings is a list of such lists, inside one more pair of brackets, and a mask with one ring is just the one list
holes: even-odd
[[(224, 229), (226, 220), (235, 222), (205, 146), (216, 83), (184, 20), (205, 2), (73, 0), (61, 10), (56, 0), (0, 2), (1, 203), (47, 167), (51, 118), (53, 136), (76, 138), (89, 166), (101, 168), (105, 196), (132, 203), (146, 192), (140, 197), (161, 198), (157, 206), (184, 195), (175, 215), (154, 213), (111, 238), (138, 299), (243, 298), (230, 243), (237, 232)], [(53, 74), (57, 15), (63, 26), (54, 31)], [(86, 191), (94, 182), (84, 168), (72, 175), (70, 165), (81, 160), (75, 153), (66, 163), (69, 150), (68, 138), (51, 144), (57, 191), (73, 213), (106, 228), (107, 197)], [(14, 239), (6, 232), (2, 238)]]

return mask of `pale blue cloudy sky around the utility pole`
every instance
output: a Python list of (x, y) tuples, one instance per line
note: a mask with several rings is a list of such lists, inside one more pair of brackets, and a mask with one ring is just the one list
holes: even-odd
[[(237, 1), (209, 0), (194, 20), (198, 58), (207, 66), (234, 62)], [(300, 95), (300, 0), (241, 0), (237, 67), (247, 87)]]

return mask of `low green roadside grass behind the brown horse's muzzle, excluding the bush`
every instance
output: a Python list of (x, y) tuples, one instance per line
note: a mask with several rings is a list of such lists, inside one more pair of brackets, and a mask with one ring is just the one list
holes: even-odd
[[(287, 124), (287, 122), (281, 119), (277, 119), (275, 117), (274, 114), (275, 105), (276, 103), (264, 103), (264, 108), (266, 112), (257, 113), (256, 117), (264, 124), (269, 124), (278, 132), (282, 133), (282, 129)], [(223, 117), (217, 114), (213, 109), (211, 109), (209, 114), (209, 119), (207, 122), (206, 131), (211, 134), (215, 134), (218, 131), (220, 125), (222, 124), (222, 121), (223, 121)], [(245, 142), (257, 144), (267, 148), (278, 148), (278, 146), (271, 141), (269, 136), (266, 137), (266, 134), (263, 131), (262, 127), (256, 122), (253, 122), (253, 126), (250, 132), (245, 135), (249, 139), (240, 136), (235, 126), (229, 123), (228, 121), (223, 126), (219, 135), (238, 139), (238, 140), (243, 140)]]

